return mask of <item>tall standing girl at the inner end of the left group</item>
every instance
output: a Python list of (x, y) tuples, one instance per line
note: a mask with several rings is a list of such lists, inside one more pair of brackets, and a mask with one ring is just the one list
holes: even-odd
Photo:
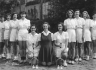
[(30, 20), (26, 19), (26, 13), (21, 12), (21, 19), (18, 23), (18, 43), (20, 48), (21, 63), (26, 61), (26, 36), (30, 28)]

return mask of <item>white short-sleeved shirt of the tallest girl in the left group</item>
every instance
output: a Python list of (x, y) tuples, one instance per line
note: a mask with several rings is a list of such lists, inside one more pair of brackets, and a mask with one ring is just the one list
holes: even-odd
[(18, 22), (18, 29), (20, 31), (20, 33), (26, 33), (28, 32), (27, 31), (27, 28), (30, 27), (30, 20), (28, 19), (20, 19), (19, 22)]

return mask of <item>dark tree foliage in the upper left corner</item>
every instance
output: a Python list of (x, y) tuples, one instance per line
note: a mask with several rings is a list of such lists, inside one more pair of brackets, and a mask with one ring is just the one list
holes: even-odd
[(0, 14), (11, 13), (12, 9), (18, 5), (18, 0), (0, 0)]

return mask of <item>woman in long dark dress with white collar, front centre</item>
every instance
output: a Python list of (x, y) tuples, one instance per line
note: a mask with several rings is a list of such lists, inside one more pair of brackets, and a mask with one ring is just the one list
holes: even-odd
[(40, 34), (40, 52), (39, 61), (42, 65), (51, 65), (54, 62), (54, 48), (52, 46), (53, 34), (48, 30), (50, 25), (48, 22), (44, 22), (44, 31)]

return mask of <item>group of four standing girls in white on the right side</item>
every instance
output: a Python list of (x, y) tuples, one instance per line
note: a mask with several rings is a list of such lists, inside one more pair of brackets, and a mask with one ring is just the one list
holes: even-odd
[(67, 17), (68, 19), (64, 20), (64, 26), (69, 34), (69, 63), (74, 64), (74, 61), (81, 61), (82, 52), (84, 52), (85, 59), (89, 60), (92, 44), (94, 53), (92, 56), (96, 59), (96, 14), (93, 15), (93, 19), (90, 19), (87, 11), (83, 11), (80, 17), (79, 10), (75, 12), (69, 10)]

